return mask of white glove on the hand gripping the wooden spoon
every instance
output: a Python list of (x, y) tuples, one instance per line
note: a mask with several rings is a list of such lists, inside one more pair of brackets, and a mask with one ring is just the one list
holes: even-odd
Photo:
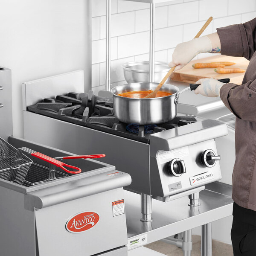
[(178, 65), (175, 68), (175, 71), (177, 71), (188, 64), (198, 53), (211, 52), (211, 50), (212, 43), (206, 35), (178, 44), (172, 54), (172, 61), (169, 63), (169, 67)]

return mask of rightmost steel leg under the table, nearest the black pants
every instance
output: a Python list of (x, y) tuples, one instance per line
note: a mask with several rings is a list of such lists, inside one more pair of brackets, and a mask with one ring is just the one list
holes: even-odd
[(212, 223), (202, 226), (201, 256), (212, 256)]

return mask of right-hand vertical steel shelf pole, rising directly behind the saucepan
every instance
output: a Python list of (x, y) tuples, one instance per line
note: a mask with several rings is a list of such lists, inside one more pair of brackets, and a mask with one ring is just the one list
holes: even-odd
[(155, 4), (150, 4), (150, 39), (149, 39), (149, 81), (154, 82), (154, 34), (155, 34)]

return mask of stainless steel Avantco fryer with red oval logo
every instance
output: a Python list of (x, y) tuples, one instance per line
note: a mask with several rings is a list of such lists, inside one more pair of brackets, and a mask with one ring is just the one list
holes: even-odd
[[(51, 157), (70, 155), (14, 137), (9, 142)], [(81, 174), (32, 186), (0, 179), (0, 254), (127, 256), (122, 187), (131, 183), (130, 175), (95, 160), (64, 162)]]

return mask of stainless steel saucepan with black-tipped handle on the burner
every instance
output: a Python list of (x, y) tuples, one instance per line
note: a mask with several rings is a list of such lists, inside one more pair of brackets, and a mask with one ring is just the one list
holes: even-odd
[[(219, 81), (228, 83), (229, 79)], [(169, 122), (177, 115), (177, 104), (181, 93), (186, 90), (195, 90), (198, 84), (190, 84), (190, 87), (179, 92), (179, 88), (172, 84), (163, 84), (160, 91), (172, 93), (169, 96), (133, 99), (118, 96), (120, 93), (130, 91), (154, 90), (158, 83), (131, 83), (114, 87), (113, 94), (114, 115), (121, 122), (136, 123), (139, 125), (160, 124)]]

